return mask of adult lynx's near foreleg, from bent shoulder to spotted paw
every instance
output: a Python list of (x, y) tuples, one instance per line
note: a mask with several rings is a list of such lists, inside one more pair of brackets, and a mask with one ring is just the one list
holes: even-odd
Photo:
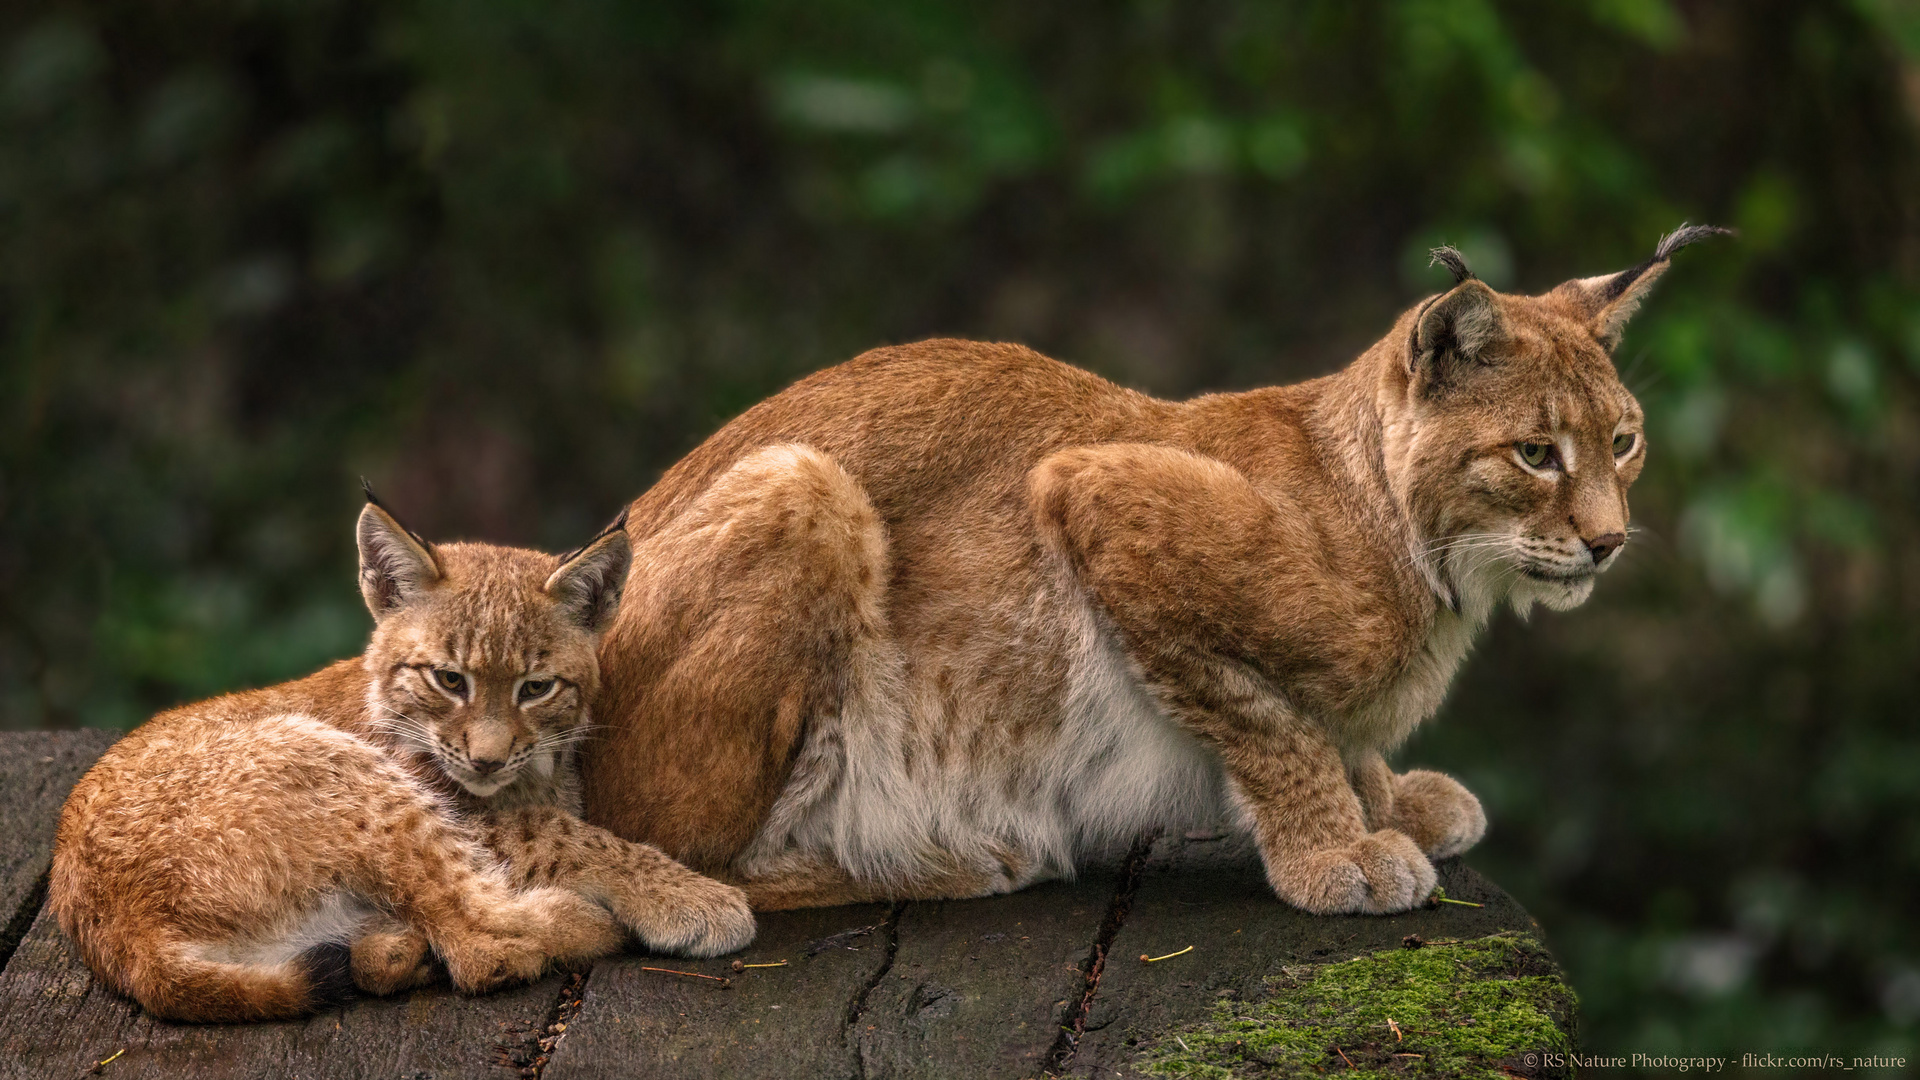
[(1367, 648), (1392, 613), (1325, 563), (1311, 521), (1221, 461), (1160, 446), (1068, 450), (1029, 484), (1043, 542), (1116, 623), (1162, 707), (1221, 755), (1273, 890), (1313, 913), (1425, 899), (1432, 863), (1367, 821), (1313, 711), (1367, 682)]

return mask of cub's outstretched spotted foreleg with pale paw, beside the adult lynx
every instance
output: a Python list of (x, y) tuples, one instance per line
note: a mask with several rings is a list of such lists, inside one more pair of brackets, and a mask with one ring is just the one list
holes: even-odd
[(753, 940), (743, 892), (555, 807), (488, 815), (482, 840), (507, 861), (515, 884), (564, 888), (605, 903), (649, 949), (716, 957)]

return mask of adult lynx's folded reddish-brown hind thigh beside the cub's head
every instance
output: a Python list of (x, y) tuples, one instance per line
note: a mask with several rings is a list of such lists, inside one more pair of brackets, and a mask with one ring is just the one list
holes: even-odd
[[(733, 463), (637, 540), (586, 748), (586, 819), (697, 871), (747, 849), (808, 721), (889, 678), (887, 536), (860, 484), (799, 444)], [(689, 717), (699, 717), (689, 724)]]

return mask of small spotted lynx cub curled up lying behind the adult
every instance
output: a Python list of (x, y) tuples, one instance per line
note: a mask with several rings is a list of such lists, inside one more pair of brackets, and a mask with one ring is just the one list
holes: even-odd
[(622, 928), (745, 945), (739, 890), (574, 817), (622, 528), (561, 559), (434, 546), (369, 492), (359, 552), (363, 659), (161, 713), (73, 790), (48, 903), (94, 972), (159, 1017), (257, 1020), (420, 984), (428, 953), (482, 992)]

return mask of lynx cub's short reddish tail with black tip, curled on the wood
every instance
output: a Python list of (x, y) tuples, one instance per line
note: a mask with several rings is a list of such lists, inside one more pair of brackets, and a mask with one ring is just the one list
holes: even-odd
[(142, 957), (121, 990), (167, 1020), (284, 1020), (342, 997), (353, 986), (348, 957), (346, 945), (328, 944), (282, 963), (230, 963), (175, 944)]

